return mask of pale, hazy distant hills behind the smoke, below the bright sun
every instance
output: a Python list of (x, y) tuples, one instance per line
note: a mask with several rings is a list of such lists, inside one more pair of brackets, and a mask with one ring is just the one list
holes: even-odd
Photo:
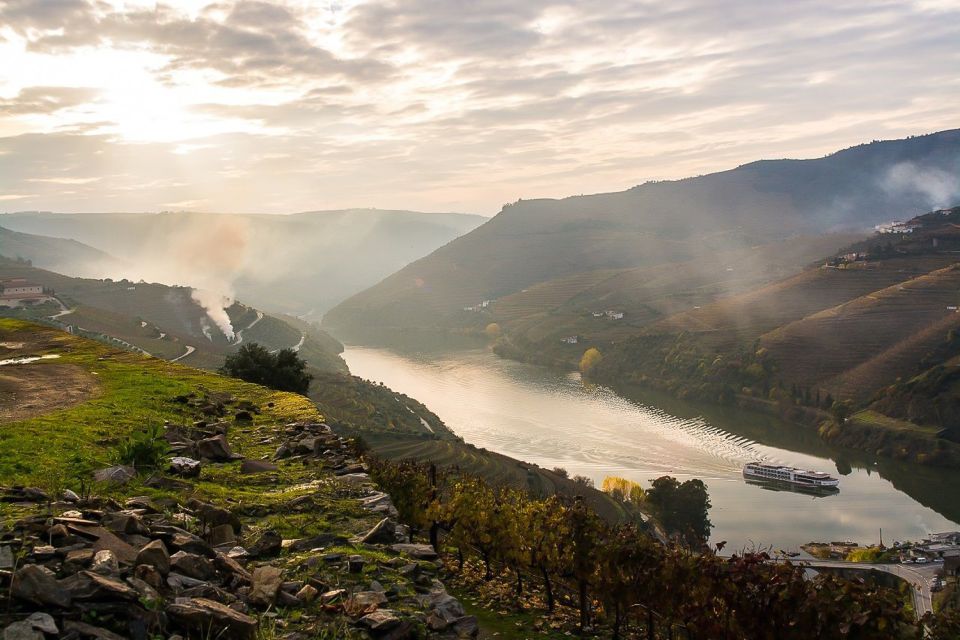
[(126, 262), (103, 265), (77, 255), (58, 265), (67, 273), (190, 284), (319, 320), (341, 300), (485, 220), (378, 209), (293, 215), (23, 212), (0, 216), (0, 226), (70, 238)]

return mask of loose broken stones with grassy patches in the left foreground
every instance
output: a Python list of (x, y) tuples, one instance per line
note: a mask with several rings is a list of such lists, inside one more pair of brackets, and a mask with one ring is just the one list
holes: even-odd
[(348, 441), (229, 397), (172, 402), (195, 420), (166, 425), (162, 472), (0, 493), (4, 640), (476, 637)]

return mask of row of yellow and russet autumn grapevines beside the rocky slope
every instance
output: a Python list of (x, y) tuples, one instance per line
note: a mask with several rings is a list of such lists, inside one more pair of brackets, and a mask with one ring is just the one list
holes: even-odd
[[(433, 532), (438, 551), (458, 557), (461, 570), (464, 559), (477, 559), (484, 579), (514, 583), (520, 607), (535, 583), (545, 593), (544, 615), (562, 603), (577, 612), (581, 628), (605, 629), (614, 638), (922, 636), (901, 594), (869, 581), (808, 579), (802, 565), (773, 562), (765, 553), (725, 558), (663, 544), (643, 523), (610, 525), (579, 498), (535, 499), (426, 464), (374, 460), (371, 473), (393, 496), (401, 519)], [(610, 484), (634, 493), (617, 479)], [(672, 484), (667, 490), (680, 491)], [(926, 621), (943, 633), (952, 624)]]

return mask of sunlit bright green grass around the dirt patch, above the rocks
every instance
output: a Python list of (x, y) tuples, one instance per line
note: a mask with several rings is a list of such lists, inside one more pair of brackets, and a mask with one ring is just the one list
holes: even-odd
[[(50, 485), (113, 462), (119, 443), (134, 429), (191, 419), (177, 395), (206, 389), (259, 404), (262, 421), (318, 418), (316, 407), (295, 394), (271, 391), (218, 374), (155, 358), (115, 351), (89, 340), (22, 321), (0, 319), (0, 336), (42, 337), (51, 361), (75, 364), (96, 376), (100, 392), (75, 406), (0, 425), (0, 483)], [(45, 366), (37, 363), (30, 366)], [(267, 407), (273, 403), (273, 407)]]

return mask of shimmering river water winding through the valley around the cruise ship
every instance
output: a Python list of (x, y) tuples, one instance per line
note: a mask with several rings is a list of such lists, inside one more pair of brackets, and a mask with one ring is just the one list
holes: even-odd
[[(571, 475), (648, 481), (700, 478), (710, 492), (712, 541), (727, 550), (795, 551), (810, 541), (886, 544), (960, 530), (960, 473), (872, 460), (827, 447), (811, 430), (717, 409), (586, 385), (568, 374), (487, 350), (400, 354), (348, 347), (354, 375), (423, 402), (467, 442)], [(840, 474), (840, 492), (814, 497), (747, 484), (764, 460)]]

